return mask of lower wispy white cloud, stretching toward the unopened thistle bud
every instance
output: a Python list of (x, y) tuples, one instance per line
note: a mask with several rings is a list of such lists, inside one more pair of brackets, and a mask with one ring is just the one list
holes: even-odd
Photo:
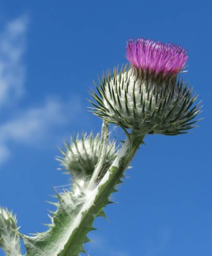
[(44, 147), (50, 141), (56, 143), (57, 129), (73, 121), (80, 111), (81, 102), (77, 97), (68, 102), (49, 99), (43, 106), (19, 111), (0, 126), (0, 164), (10, 156), (9, 142), (30, 145), (42, 142)]

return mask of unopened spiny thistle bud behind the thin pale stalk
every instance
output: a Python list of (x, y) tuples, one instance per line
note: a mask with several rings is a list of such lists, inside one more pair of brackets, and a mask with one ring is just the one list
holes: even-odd
[[(86, 133), (79, 138), (70, 138), (65, 144), (66, 150), (61, 150), (64, 157), (58, 158), (69, 174), (74, 177), (88, 177), (93, 173), (99, 160), (100, 136)], [(109, 142), (104, 167), (110, 166), (116, 156), (115, 142)]]

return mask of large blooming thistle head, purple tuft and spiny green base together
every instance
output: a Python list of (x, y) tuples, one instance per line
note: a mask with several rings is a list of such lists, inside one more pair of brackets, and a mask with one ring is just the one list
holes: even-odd
[(99, 79), (93, 91), (93, 112), (104, 120), (130, 128), (137, 134), (186, 133), (196, 121), (197, 96), (176, 75), (187, 55), (180, 46), (151, 40), (129, 40), (126, 57), (131, 63)]

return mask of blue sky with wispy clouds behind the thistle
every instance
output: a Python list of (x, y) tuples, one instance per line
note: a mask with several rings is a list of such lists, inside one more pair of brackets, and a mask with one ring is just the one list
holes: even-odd
[[(128, 38), (187, 48), (186, 82), (203, 100), (201, 127), (149, 135), (119, 204), (98, 218), (91, 256), (210, 256), (211, 3), (209, 1), (0, 1), (0, 205), (24, 234), (48, 223), (45, 200), (69, 183), (54, 157), (70, 134), (99, 132), (85, 99), (92, 80), (126, 63)], [(121, 137), (121, 131), (112, 136)], [(4, 255), (0, 251), (0, 255)]]

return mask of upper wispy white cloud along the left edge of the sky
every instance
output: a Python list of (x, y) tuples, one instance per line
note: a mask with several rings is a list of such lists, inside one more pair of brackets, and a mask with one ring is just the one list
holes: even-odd
[(0, 106), (17, 101), (24, 92), (28, 17), (20, 16), (9, 21), (0, 32)]

